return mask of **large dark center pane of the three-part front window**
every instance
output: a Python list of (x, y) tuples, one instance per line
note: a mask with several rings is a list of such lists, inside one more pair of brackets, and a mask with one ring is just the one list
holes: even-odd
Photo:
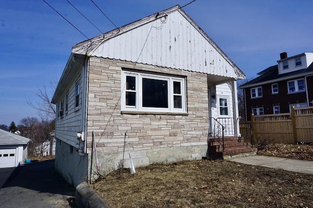
[(142, 107), (168, 108), (167, 80), (142, 78)]

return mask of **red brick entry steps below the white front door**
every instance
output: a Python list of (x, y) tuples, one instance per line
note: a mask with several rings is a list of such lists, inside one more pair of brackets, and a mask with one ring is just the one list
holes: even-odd
[(254, 155), (257, 148), (251, 148), (249, 142), (238, 141), (238, 137), (209, 138), (209, 157), (215, 159), (230, 159)]

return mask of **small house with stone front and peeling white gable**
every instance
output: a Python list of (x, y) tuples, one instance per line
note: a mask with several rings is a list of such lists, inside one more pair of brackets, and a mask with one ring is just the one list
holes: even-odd
[(78, 43), (52, 98), (56, 169), (76, 186), (96, 173), (95, 151), (103, 170), (116, 169), (125, 133), (135, 166), (201, 159), (222, 135), (217, 121), (240, 136), (244, 78), (180, 6)]

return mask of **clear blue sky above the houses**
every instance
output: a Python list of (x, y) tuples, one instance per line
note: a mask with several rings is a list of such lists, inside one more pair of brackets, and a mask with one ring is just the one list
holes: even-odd
[[(46, 0), (88, 38), (100, 35), (66, 0)], [(103, 33), (115, 26), (90, 0), (69, 0)], [(191, 0), (93, 0), (118, 27)], [(313, 52), (313, 0), (196, 0), (183, 10), (246, 74), (281, 52)], [(38, 112), (27, 100), (58, 81), (71, 47), (86, 38), (42, 0), (0, 0), (0, 124)]]

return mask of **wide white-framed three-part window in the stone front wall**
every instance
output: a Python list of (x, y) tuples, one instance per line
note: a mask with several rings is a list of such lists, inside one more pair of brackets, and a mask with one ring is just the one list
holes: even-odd
[(122, 110), (186, 112), (185, 78), (122, 71)]

